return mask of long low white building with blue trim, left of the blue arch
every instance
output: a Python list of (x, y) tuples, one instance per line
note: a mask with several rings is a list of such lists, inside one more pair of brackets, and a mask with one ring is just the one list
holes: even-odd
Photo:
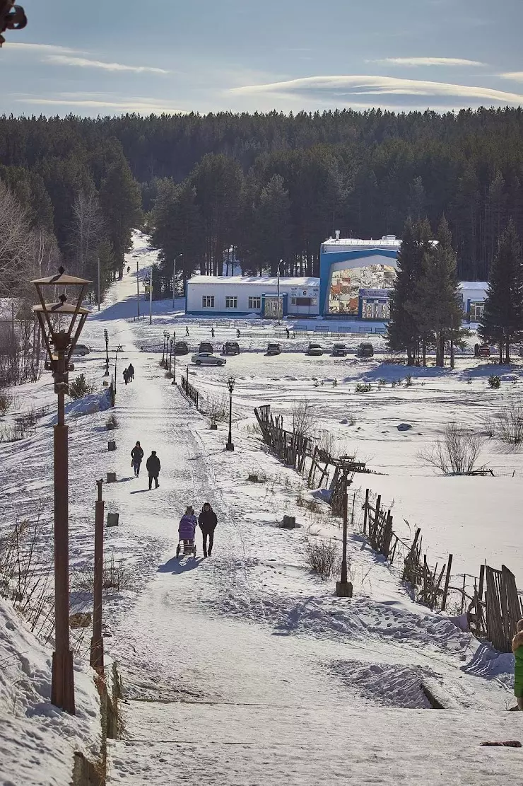
[(287, 314), (317, 316), (320, 313), (319, 278), (272, 276), (193, 276), (185, 291), (185, 312), (201, 317), (244, 317), (257, 314), (278, 318)]

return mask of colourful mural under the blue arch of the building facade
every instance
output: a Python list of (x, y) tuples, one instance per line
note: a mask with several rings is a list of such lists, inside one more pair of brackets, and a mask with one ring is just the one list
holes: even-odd
[[(329, 314), (356, 316), (360, 307), (360, 290), (386, 290), (394, 286), (396, 270), (389, 265), (368, 265), (345, 270), (333, 270), (329, 291)], [(370, 299), (370, 296), (369, 296)], [(380, 310), (387, 318), (385, 309)]]

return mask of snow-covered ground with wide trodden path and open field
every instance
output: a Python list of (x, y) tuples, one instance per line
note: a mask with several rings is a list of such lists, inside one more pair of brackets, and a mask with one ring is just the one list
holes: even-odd
[[(138, 259), (142, 275), (155, 259), (139, 233), (130, 259)], [(483, 786), (513, 777), (521, 766), (520, 751), (479, 747), (481, 740), (521, 737), (518, 715), (506, 712), (514, 703), (512, 656), (499, 656), (452, 620), (413, 604), (398, 576), (357, 532), (349, 539), (354, 598), (337, 599), (333, 582), (321, 582), (306, 567), (305, 545), (307, 538), (339, 541), (338, 520), (323, 505), (314, 512), (298, 507), (298, 494), (307, 494), (304, 483), (262, 450), (248, 428), (256, 404), (271, 403), (288, 416), (292, 403), (307, 395), (319, 428), (335, 430), (371, 468), (388, 473), (364, 476), (361, 486), (394, 499), (395, 522), (407, 518), (412, 526), (419, 524), (431, 556), (452, 547), (455, 562), (466, 566), (470, 559), (473, 571), (485, 549), (489, 562), (504, 560), (516, 571), (521, 567), (514, 515), (518, 479), (433, 477), (415, 458), (454, 412), (466, 422), (479, 422), (481, 411), (503, 406), (509, 384), (488, 391), (484, 377), (473, 371), (469, 385), (464, 369), (473, 369), (474, 362), (468, 358), (453, 373), (419, 372), (411, 387), (389, 383), (378, 390), (379, 375), (390, 380), (392, 374), (404, 376), (405, 369), (352, 357), (305, 358), (299, 352), (265, 358), (266, 339), (255, 336), (248, 341), (260, 351), (228, 358), (225, 369), (189, 369), (203, 395), (221, 396), (225, 377), (237, 378), (236, 449), (229, 453), (225, 426), (211, 432), (159, 367), (164, 329), (176, 326), (178, 336), (188, 324), (191, 343), (197, 343), (209, 339), (208, 327), (173, 317), (166, 303), (155, 304), (159, 313), (152, 325), (133, 321), (135, 292), (134, 273), (113, 286), (82, 335), (93, 352), (75, 362), (101, 386), (104, 328), (112, 348), (123, 345), (113, 410), (119, 428), (111, 432), (118, 449), (107, 451), (107, 413), (70, 419), (73, 586), (75, 575), (93, 560), (94, 481), (108, 471), (118, 479), (104, 487), (106, 510), (119, 512), (119, 527), (105, 531), (106, 561), (122, 559), (124, 578), (121, 590), (106, 599), (104, 634), (106, 663), (119, 661), (126, 703), (124, 739), (111, 744), (108, 782), (133, 786), (177, 779), (258, 786), (276, 784), (283, 775), (289, 784), (304, 786), (338, 780)], [(272, 328), (263, 330), (273, 335)], [(234, 336), (236, 328), (217, 330), (219, 340)], [(290, 339), (289, 346), (292, 341), (297, 340)], [(178, 373), (187, 359), (181, 359)], [(125, 386), (121, 369), (130, 360), (136, 378)], [(518, 371), (510, 373), (519, 380)], [(31, 387), (38, 402), (53, 402), (48, 377)], [(355, 393), (355, 383), (367, 377), (373, 380), (371, 392)], [(336, 387), (328, 381), (333, 379)], [(341, 422), (349, 421), (350, 413), (356, 413), (353, 426)], [(14, 500), (19, 516), (40, 512), (42, 568), (50, 560), (51, 422), (49, 414), (35, 436), (0, 446), (0, 528), (13, 523)], [(397, 431), (400, 422), (413, 425), (406, 437)], [(137, 439), (146, 456), (156, 450), (162, 462), (158, 490), (148, 490), (144, 469), (140, 478), (133, 477), (130, 450)], [(490, 445), (485, 459), (507, 468), (521, 461), (519, 454), (498, 454)], [(253, 468), (265, 483), (247, 483)], [(452, 482), (460, 488), (455, 497)], [(510, 502), (499, 490), (512, 495)], [(482, 494), (484, 505), (478, 501)], [(442, 496), (448, 498), (446, 507)], [(495, 532), (484, 515), (491, 498)], [(178, 561), (177, 521), (185, 505), (199, 509), (203, 501), (218, 513), (213, 556), (202, 558), (197, 538), (196, 560)], [(286, 512), (301, 526), (280, 529)], [(474, 538), (471, 556), (467, 549)], [(89, 607), (88, 593), (75, 592), (72, 600), (75, 610)], [(83, 652), (79, 645), (78, 654), (86, 656), (86, 645)], [(427, 711), (422, 679), (452, 711)], [(80, 677), (78, 683), (82, 689)], [(0, 712), (10, 722), (6, 696)], [(23, 732), (42, 733), (38, 714), (28, 715), (16, 715)], [(20, 769), (13, 755), (12, 738), (5, 741), (0, 731), (0, 740), (11, 755), (5, 775), (3, 759), (0, 764), (6, 783), (9, 778), (16, 784), (66, 782), (49, 780), (48, 770), (27, 778), (27, 768)]]

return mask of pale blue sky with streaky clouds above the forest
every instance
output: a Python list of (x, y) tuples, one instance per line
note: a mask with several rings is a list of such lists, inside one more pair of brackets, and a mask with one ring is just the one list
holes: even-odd
[(0, 113), (523, 104), (523, 0), (17, 0)]

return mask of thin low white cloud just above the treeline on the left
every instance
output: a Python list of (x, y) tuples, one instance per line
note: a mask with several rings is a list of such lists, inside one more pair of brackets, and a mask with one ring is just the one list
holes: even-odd
[(61, 93), (54, 97), (18, 97), (16, 102), (19, 104), (42, 105), (42, 106), (64, 106), (79, 107), (86, 109), (113, 109), (115, 113), (140, 112), (143, 115), (166, 114), (178, 115), (187, 114), (185, 109), (156, 98), (142, 98), (132, 96), (129, 98), (112, 97), (107, 94), (89, 93)]

